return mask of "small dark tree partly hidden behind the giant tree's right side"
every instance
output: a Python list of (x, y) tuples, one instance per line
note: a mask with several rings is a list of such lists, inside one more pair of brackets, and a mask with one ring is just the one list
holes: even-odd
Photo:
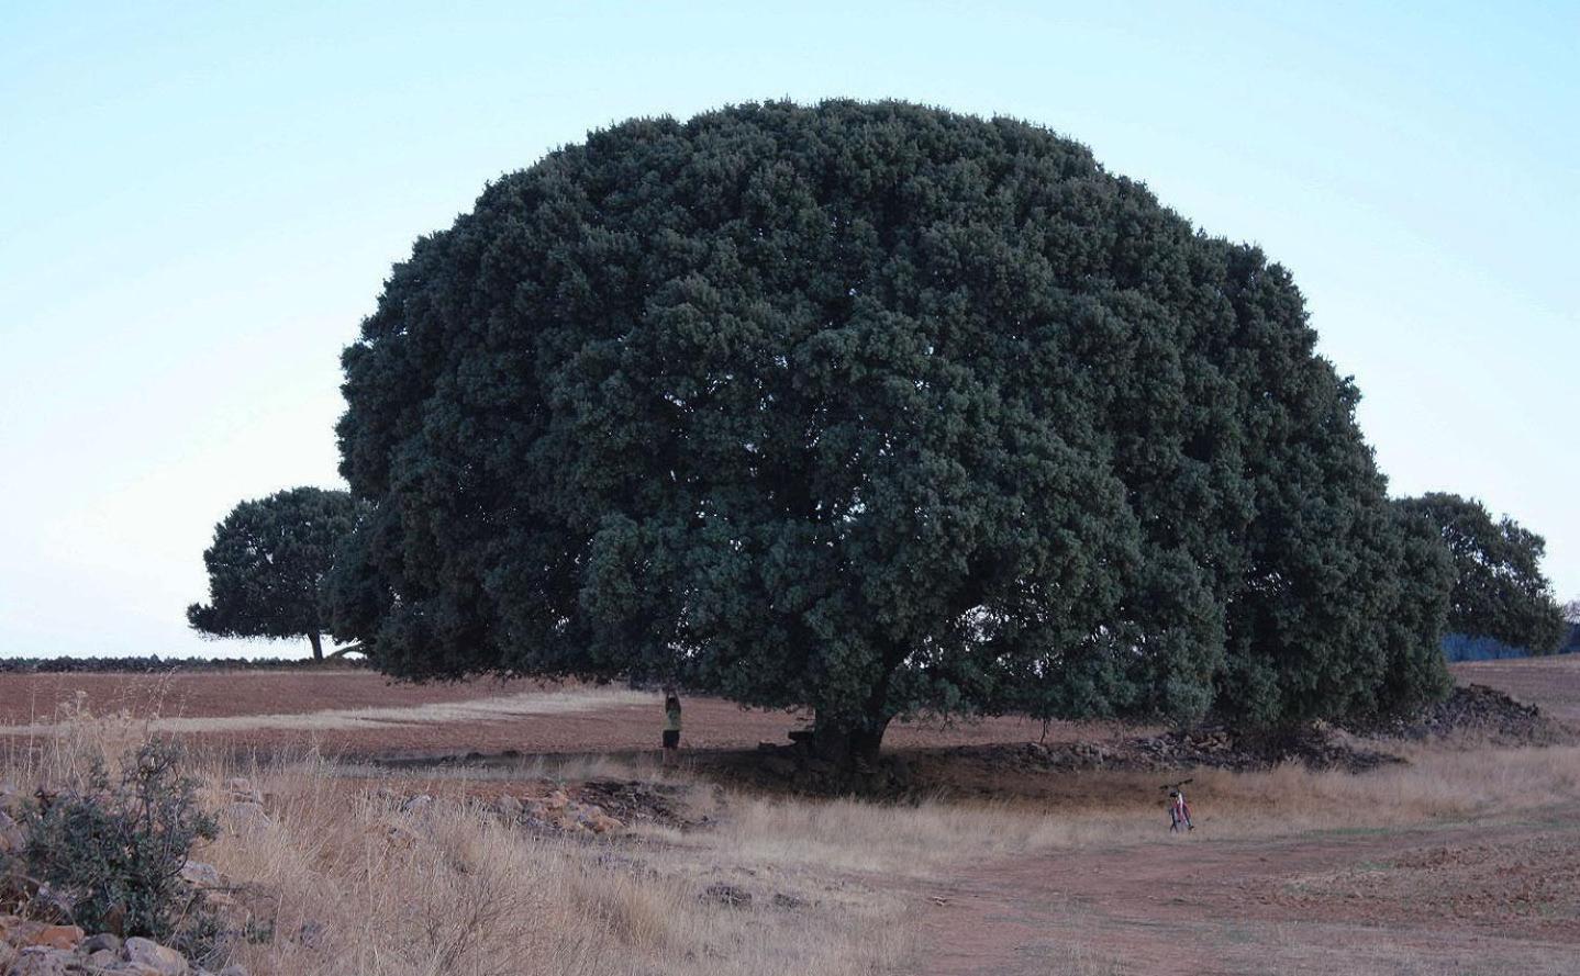
[(1542, 575), (1547, 540), (1509, 516), (1493, 521), (1476, 499), (1435, 491), (1398, 505), (1431, 521), (1454, 557), (1449, 632), (1490, 636), (1552, 654), (1564, 640), (1564, 611)]

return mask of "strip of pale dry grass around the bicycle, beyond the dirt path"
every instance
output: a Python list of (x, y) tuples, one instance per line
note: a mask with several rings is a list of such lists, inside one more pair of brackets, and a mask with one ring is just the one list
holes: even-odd
[[(1281, 766), (1194, 771), (1199, 837), (1250, 839), (1510, 816), (1580, 799), (1580, 747), (1430, 750), (1364, 775)], [(1068, 777), (1079, 799), (1051, 804), (874, 805), (736, 798), (706, 839), (757, 870), (826, 870), (935, 878), (951, 865), (1049, 850), (1155, 843), (1166, 823), (1158, 774)], [(670, 843), (702, 843), (670, 834)]]

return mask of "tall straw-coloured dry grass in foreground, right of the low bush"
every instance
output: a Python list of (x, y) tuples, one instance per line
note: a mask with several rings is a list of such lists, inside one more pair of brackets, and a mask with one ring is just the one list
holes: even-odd
[(272, 823), (202, 854), (267, 892), (254, 902), (276, 938), (239, 955), (254, 973), (853, 976), (897, 957), (885, 922), (901, 905), (882, 897), (798, 911), (774, 908), (766, 889), (747, 910), (702, 902), (732, 873), (706, 840), (544, 837), (466, 802), (408, 815), (330, 766), (256, 783)]

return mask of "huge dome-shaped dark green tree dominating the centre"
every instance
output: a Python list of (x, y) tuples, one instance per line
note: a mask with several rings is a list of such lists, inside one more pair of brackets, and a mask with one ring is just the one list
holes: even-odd
[(912, 104), (634, 120), (490, 185), (346, 349), (332, 584), (390, 673), (1281, 723), (1443, 690), (1447, 569), (1288, 272)]

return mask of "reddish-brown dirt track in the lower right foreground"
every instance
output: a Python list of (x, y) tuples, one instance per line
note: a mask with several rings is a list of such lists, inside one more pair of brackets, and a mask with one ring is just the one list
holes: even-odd
[(1574, 973), (1580, 818), (1022, 858), (912, 892), (918, 976)]

